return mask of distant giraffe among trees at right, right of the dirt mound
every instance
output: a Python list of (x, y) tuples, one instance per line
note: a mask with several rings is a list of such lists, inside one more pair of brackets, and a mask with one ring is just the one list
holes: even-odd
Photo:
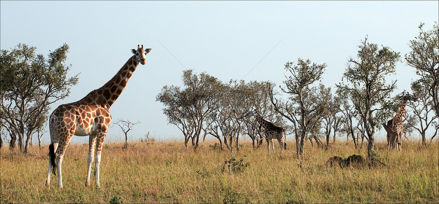
[(382, 123), (381, 125), (384, 127), (384, 130), (387, 132), (387, 149), (397, 149), (397, 151), (401, 151), (401, 136), (403, 130), (403, 118), (405, 114), (405, 106), (407, 101), (418, 101), (412, 95), (408, 94), (402, 98), (402, 106), (399, 108), (395, 117), (389, 121), (387, 121), (387, 125)]

